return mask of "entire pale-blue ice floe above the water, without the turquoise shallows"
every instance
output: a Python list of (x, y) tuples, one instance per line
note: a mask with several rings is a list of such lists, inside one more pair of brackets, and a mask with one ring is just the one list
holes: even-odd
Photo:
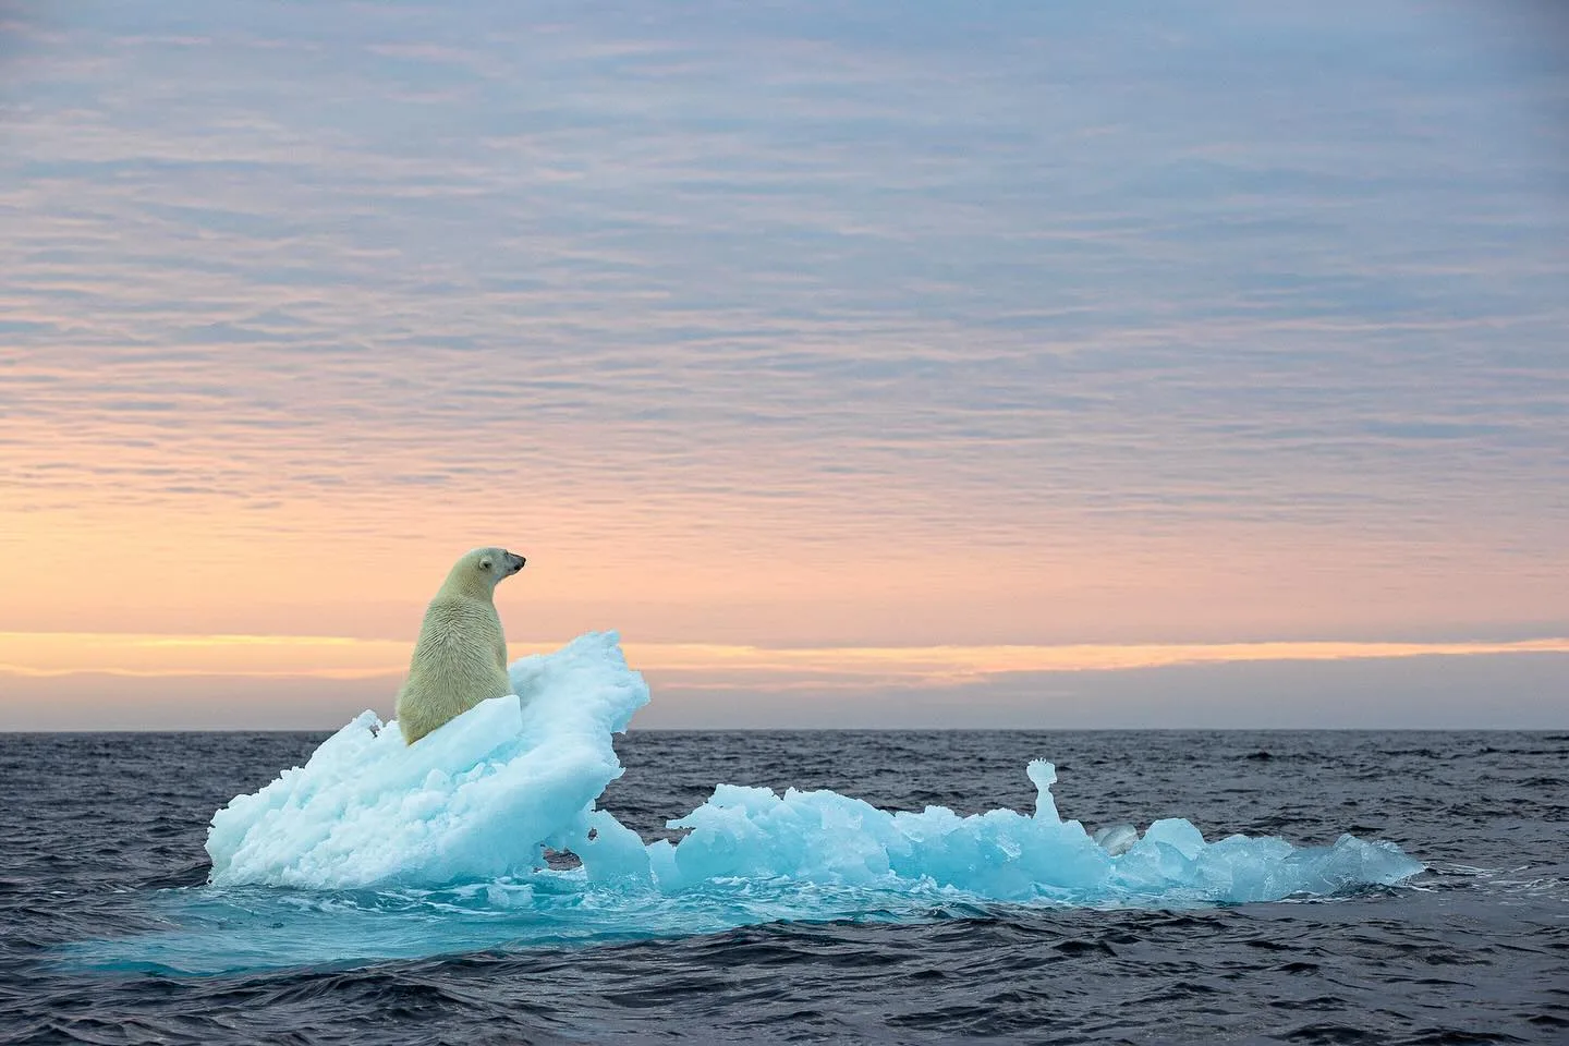
[[(1037, 790), (1029, 814), (890, 812), (827, 790), (720, 784), (670, 822), (689, 830), (684, 839), (645, 844), (596, 808), (621, 775), (612, 735), (648, 701), (617, 637), (579, 637), (510, 674), (513, 695), (413, 746), (366, 712), (304, 767), (231, 801), (207, 839), (212, 883), (430, 889), (554, 875), (560, 886), (623, 895), (693, 899), (745, 883), (1159, 905), (1327, 895), (1422, 870), (1393, 844), (1352, 836), (1307, 848), (1276, 837), (1211, 842), (1175, 819), (1092, 836), (1058, 814), (1056, 770), (1043, 761), (1028, 767)], [(546, 847), (571, 850), (582, 867), (544, 872)]]

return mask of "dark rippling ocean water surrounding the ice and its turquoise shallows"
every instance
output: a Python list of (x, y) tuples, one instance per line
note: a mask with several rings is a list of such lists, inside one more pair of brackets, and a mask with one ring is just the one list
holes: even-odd
[(1429, 870), (1313, 902), (934, 910), (598, 946), (497, 944), (215, 977), (83, 969), (199, 897), (212, 812), (323, 734), (0, 735), (0, 1041), (1569, 1041), (1569, 735), (634, 732), (602, 800), (645, 839), (715, 783), (890, 809), (1186, 817)]

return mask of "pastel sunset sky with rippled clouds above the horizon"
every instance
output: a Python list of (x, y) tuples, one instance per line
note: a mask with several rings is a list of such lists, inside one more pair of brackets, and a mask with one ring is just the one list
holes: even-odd
[(0, 729), (1569, 726), (1569, 19), (0, 13)]

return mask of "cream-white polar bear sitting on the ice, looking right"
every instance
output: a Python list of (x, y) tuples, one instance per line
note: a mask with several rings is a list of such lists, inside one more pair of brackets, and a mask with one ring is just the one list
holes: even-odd
[(403, 740), (416, 740), (480, 701), (511, 693), (507, 637), (496, 613), (497, 582), (522, 569), (507, 549), (474, 549), (425, 607), (408, 682), (397, 695)]

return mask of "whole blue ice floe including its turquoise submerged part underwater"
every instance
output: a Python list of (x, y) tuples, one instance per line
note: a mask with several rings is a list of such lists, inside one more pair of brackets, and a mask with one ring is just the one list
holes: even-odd
[[(303, 767), (212, 819), (210, 884), (168, 891), (166, 933), (77, 958), (223, 972), (645, 939), (772, 921), (930, 919), (995, 906), (1189, 906), (1392, 886), (1423, 866), (1390, 842), (1207, 841), (1186, 820), (1094, 836), (1062, 820), (1056, 770), (1036, 809), (960, 817), (828, 790), (720, 784), (645, 844), (596, 806), (621, 775), (612, 735), (648, 703), (615, 634), (511, 666), (513, 693), (408, 746), (364, 712)], [(582, 866), (554, 870), (544, 848)]]

